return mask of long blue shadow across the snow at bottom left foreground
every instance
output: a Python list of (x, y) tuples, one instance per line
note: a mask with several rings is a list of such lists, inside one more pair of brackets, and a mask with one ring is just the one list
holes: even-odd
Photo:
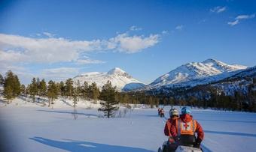
[(65, 151), (90, 151), (90, 152), (113, 152), (113, 151), (122, 151), (122, 152), (152, 152), (143, 148), (129, 148), (125, 146), (117, 145), (105, 145), (93, 142), (81, 142), (65, 139), (66, 142), (56, 141), (51, 139), (44, 139), (43, 137), (33, 137), (29, 138), (35, 142), (39, 142), (44, 145), (48, 145), (53, 148), (59, 148)]

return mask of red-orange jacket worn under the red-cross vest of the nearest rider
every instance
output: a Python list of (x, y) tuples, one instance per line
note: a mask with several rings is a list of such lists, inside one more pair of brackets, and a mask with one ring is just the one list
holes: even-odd
[[(201, 127), (201, 125), (196, 120), (193, 120), (192, 115), (188, 115), (188, 114), (181, 115), (181, 117), (178, 118), (177, 121), (179, 121), (179, 120), (181, 120), (185, 124), (188, 124), (188, 123), (193, 124), (192, 122), (194, 121), (194, 124), (195, 124), (194, 125), (194, 127), (195, 127), (194, 132), (197, 133), (197, 139), (200, 139), (201, 141), (203, 141), (203, 137), (204, 137), (203, 128)], [(171, 126), (171, 131), (170, 132), (171, 132), (172, 137), (177, 137), (178, 136), (177, 121), (175, 123), (172, 123), (172, 126)], [(187, 134), (190, 134), (190, 133), (187, 133)]]

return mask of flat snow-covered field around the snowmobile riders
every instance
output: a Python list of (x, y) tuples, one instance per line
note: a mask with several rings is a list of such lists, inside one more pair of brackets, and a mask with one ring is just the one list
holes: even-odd
[[(95, 108), (53, 109), (35, 103), (0, 104), (0, 128), (13, 151), (157, 151), (167, 139), (157, 109), (133, 109), (124, 118), (99, 118)], [(61, 105), (59, 103), (59, 105)], [(166, 116), (168, 115), (166, 107)], [(256, 114), (193, 109), (203, 126), (204, 151), (256, 151)]]

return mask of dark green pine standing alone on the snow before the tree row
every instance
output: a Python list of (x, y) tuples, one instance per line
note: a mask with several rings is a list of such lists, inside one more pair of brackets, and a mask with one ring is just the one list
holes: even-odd
[(115, 89), (116, 87), (112, 87), (111, 82), (108, 81), (102, 86), (102, 92), (99, 96), (99, 99), (104, 100), (105, 102), (100, 103), (102, 107), (98, 110), (104, 112), (104, 115), (107, 116), (107, 118), (113, 117), (114, 112), (119, 109), (117, 106), (115, 106), (118, 103), (118, 101), (115, 100)]

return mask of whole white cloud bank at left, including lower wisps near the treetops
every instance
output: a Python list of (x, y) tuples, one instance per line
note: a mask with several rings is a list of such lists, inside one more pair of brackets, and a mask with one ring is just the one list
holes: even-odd
[(75, 64), (79, 67), (84, 64), (103, 64), (105, 61), (88, 58), (84, 54), (99, 51), (136, 53), (156, 45), (160, 39), (159, 34), (144, 36), (130, 35), (128, 32), (105, 40), (69, 40), (51, 37), (53, 36), (51, 34), (48, 36), (38, 38), (0, 34), (0, 72), (14, 70), (26, 84), (31, 81), (32, 76), (56, 80), (67, 79), (77, 75), (78, 68), (47, 69), (38, 74), (38, 71), (29, 71), (29, 65), (62, 63), (65, 66)]

